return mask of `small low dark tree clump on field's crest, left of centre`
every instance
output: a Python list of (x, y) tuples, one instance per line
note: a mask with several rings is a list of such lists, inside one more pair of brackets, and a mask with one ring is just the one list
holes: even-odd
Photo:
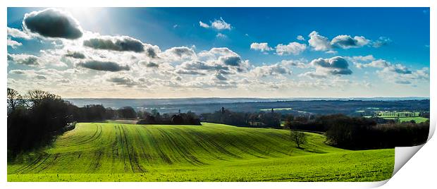
[(201, 125), (200, 119), (191, 111), (178, 114), (159, 114), (156, 109), (151, 113), (147, 111), (139, 111), (140, 121), (137, 124), (166, 124), (166, 125)]

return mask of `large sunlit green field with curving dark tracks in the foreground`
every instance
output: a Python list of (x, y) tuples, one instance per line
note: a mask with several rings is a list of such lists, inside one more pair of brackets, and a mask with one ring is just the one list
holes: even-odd
[(202, 126), (78, 123), (43, 152), (8, 162), (8, 181), (381, 181), (395, 150), (341, 150), (307, 133)]

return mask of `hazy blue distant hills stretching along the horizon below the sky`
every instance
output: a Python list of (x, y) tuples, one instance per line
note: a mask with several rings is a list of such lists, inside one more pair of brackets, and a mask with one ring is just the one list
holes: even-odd
[[(174, 113), (180, 111), (195, 111), (197, 113), (213, 112), (221, 106), (233, 111), (258, 111), (259, 109), (293, 108), (300, 111), (314, 112), (314, 108), (323, 111), (345, 113), (368, 107), (381, 109), (426, 110), (429, 109), (428, 97), (356, 97), (356, 98), (178, 98), (178, 99), (98, 99), (74, 98), (66, 99), (76, 106), (87, 104), (102, 104), (105, 107), (118, 109), (132, 106), (137, 110), (152, 111), (158, 109), (160, 113)], [(405, 102), (411, 100), (425, 100), (417, 103)], [(352, 103), (352, 102), (353, 103)], [(343, 107), (342, 106), (347, 106)], [(393, 109), (395, 108), (395, 109)], [(336, 111), (338, 109), (338, 111)], [(340, 109), (343, 109), (340, 111)], [(347, 109), (347, 111), (345, 111)], [(317, 112), (319, 112), (317, 111)]]

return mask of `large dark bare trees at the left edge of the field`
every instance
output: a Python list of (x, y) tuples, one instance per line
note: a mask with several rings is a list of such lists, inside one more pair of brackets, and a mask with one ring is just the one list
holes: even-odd
[(47, 145), (73, 119), (72, 105), (55, 94), (32, 90), (21, 96), (7, 89), (8, 153)]

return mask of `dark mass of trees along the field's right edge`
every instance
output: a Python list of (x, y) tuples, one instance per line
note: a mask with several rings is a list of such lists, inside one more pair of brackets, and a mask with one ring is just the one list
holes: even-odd
[(428, 138), (429, 121), (380, 121), (378, 118), (334, 114), (318, 116), (307, 121), (295, 121), (293, 117), (289, 117), (285, 119), (284, 127), (324, 132), (329, 144), (351, 150), (421, 145)]

